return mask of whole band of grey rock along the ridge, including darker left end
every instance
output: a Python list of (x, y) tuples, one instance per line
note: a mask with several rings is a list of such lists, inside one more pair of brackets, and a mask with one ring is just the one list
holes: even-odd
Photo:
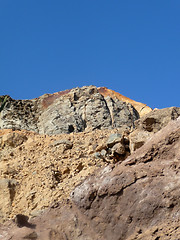
[(44, 134), (134, 127), (138, 112), (130, 103), (103, 96), (94, 86), (74, 88), (33, 100), (7, 99), (0, 128)]

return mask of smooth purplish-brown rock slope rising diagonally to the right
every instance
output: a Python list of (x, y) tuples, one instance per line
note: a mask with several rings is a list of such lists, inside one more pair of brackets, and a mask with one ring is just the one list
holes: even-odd
[(24, 217), (24, 227), (16, 222), (1, 226), (0, 239), (177, 240), (179, 169), (180, 118), (122, 163), (83, 180), (66, 203), (28, 222)]

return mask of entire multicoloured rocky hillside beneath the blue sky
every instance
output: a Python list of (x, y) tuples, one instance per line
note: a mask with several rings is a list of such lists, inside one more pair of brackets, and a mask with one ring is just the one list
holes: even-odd
[(3, 99), (0, 239), (180, 238), (180, 108), (94, 86)]

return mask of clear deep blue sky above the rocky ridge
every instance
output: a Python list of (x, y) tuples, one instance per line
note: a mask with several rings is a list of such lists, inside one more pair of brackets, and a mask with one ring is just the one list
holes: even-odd
[(0, 95), (105, 86), (180, 107), (179, 0), (0, 0)]

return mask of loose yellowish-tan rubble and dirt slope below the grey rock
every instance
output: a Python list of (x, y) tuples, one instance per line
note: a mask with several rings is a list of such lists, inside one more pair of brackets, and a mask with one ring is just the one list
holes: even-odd
[(69, 198), (75, 185), (109, 164), (94, 154), (112, 132), (118, 129), (51, 137), (1, 130), (0, 192), (8, 203), (4, 206), (1, 198), (1, 222), (16, 214), (38, 215), (53, 202)]

